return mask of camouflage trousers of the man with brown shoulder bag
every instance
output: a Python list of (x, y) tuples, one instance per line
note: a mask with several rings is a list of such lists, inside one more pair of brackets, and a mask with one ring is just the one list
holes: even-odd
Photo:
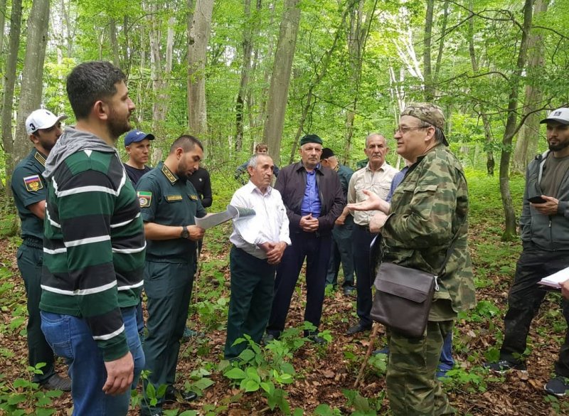
[(442, 343), (453, 324), (454, 321), (429, 321), (427, 334), (420, 338), (388, 330), (385, 381), (393, 416), (455, 414), (436, 375)]

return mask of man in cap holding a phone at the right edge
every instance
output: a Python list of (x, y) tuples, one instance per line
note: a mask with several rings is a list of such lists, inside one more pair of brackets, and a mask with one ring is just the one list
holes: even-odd
[[(547, 124), (549, 150), (528, 165), (520, 217), (523, 251), (508, 294), (504, 342), (499, 361), (485, 364), (499, 373), (526, 371), (523, 353), (529, 327), (547, 293), (538, 282), (569, 267), (569, 108), (553, 110), (541, 123)], [(567, 299), (562, 307), (569, 324)], [(569, 331), (555, 362), (555, 377), (545, 390), (556, 396), (569, 390)]]

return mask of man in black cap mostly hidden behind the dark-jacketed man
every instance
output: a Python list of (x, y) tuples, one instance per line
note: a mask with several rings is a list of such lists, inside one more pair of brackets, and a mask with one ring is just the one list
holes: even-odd
[[(345, 165), (339, 163), (334, 151), (325, 147), (320, 155), (320, 163), (326, 168), (336, 171), (342, 184), (344, 198), (348, 199), (348, 186), (350, 184), (353, 171)], [(326, 274), (326, 284), (332, 284), (334, 287), (338, 284), (338, 272), (340, 270), (340, 262), (342, 270), (344, 270), (344, 283), (342, 288), (344, 294), (352, 294), (356, 289), (353, 287), (353, 252), (351, 244), (351, 233), (353, 229), (353, 216), (346, 208), (341, 215), (336, 218), (334, 229), (332, 230), (332, 245), (330, 252), (330, 264)]]

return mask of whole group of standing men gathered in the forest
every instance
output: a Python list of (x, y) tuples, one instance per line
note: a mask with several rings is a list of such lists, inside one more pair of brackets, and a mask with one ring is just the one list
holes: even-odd
[[(147, 368), (151, 373), (144, 392), (148, 383), (167, 388), (155, 405), (144, 400), (141, 414), (161, 415), (164, 400), (195, 398), (191, 392), (174, 388), (174, 380), (196, 270), (196, 242), (204, 235), (194, 217), (206, 212), (196, 188), (188, 182), (198, 171), (203, 146), (195, 137), (181, 136), (171, 145), (166, 160), (152, 171), (144, 173), (144, 158), (140, 159), (142, 166), (130, 166), (137, 169), (131, 181), (125, 171), (131, 169), (123, 167), (115, 148), (117, 138), (131, 129), (129, 117), (134, 110), (124, 74), (110, 63), (83, 63), (68, 76), (67, 91), (75, 127), (61, 135), (63, 117), (46, 110), (33, 112), (26, 129), (34, 149), (13, 177), (23, 223), (18, 266), (28, 292), (30, 361), (48, 364), (43, 375), (38, 375), (39, 383), (71, 388), (74, 415), (125, 415), (129, 390)], [(536, 261), (528, 256), (543, 257), (550, 252), (558, 256), (553, 246), (542, 244), (551, 241), (534, 228), (539, 215), (548, 216), (549, 227), (553, 224), (555, 230), (563, 229), (567, 217), (568, 202), (546, 196), (565, 196), (565, 188), (557, 183), (567, 180), (563, 159), (569, 144), (566, 110), (556, 110), (558, 117), (552, 113), (544, 120), (552, 159), (536, 162), (528, 170), (524, 199), (534, 191), (543, 194), (545, 202), (530, 205), (524, 201), (524, 252), (516, 290), (511, 292), (504, 360), (496, 365), (498, 369), (519, 366), (511, 359), (518, 356), (508, 355), (517, 347), (508, 349), (506, 341), (513, 325), (509, 322), (517, 322), (509, 321), (518, 307), (514, 294), (521, 290), (535, 293), (535, 279), (528, 283), (521, 273), (524, 267), (535, 268)], [(334, 225), (345, 227), (351, 215), (346, 210), (347, 196), (347, 208), (356, 211), (351, 235), (358, 249), (353, 258), (359, 322), (349, 334), (371, 326), (373, 273), (366, 250), (376, 233), (383, 238), (383, 261), (433, 272), (445, 260), (450, 240), (456, 236), (445, 272), (437, 280), (425, 334), (409, 338), (387, 329), (390, 360), (386, 374), (393, 415), (454, 412), (436, 378), (437, 363), (458, 311), (474, 305), (474, 284), (467, 244), (467, 184), (462, 167), (447, 149), (443, 128), (439, 107), (421, 103), (405, 108), (395, 140), (398, 154), (409, 166), (396, 188), (391, 180), (397, 172), (385, 164), (387, 143), (378, 134), (367, 137), (368, 164), (349, 180), (334, 172), (340, 167), (332, 159), (333, 152), (326, 149), (323, 154), (322, 140), (314, 134), (302, 138), (301, 160), (280, 171), (274, 189), (270, 182), (275, 165), (270, 156), (259, 154), (248, 161), (250, 182), (235, 192), (232, 202), (253, 208), (258, 217), (235, 222), (230, 237), (232, 295), (226, 358), (235, 358), (243, 350), (243, 345), (235, 343), (243, 334), (260, 342), (266, 327), (265, 341), (280, 336), (304, 260), (304, 320), (312, 324), (305, 336), (315, 343), (325, 342), (318, 331), (324, 286)], [(149, 147), (144, 141), (153, 137), (141, 138), (140, 134), (127, 136), (127, 151), (147, 155)], [(536, 178), (534, 171), (538, 171)], [(138, 174), (142, 177), (135, 191)], [(389, 193), (390, 204), (385, 201)], [(530, 223), (531, 228), (526, 228)], [(338, 246), (340, 241), (336, 239)], [(555, 257), (550, 263), (553, 269), (564, 267), (565, 257)], [(40, 290), (37, 267), (41, 264)], [(137, 325), (143, 282), (149, 312), (144, 351)], [(568, 290), (564, 287), (564, 293)], [(539, 292), (533, 309), (526, 308), (524, 325), (528, 326), (541, 299)], [(567, 387), (563, 378), (566, 349), (562, 347), (556, 366), (559, 378), (554, 379), (561, 387)], [(55, 375), (53, 353), (66, 359), (71, 380)]]

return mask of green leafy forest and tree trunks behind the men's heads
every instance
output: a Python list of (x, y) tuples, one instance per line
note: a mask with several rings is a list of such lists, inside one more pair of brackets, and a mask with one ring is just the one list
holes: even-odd
[[(538, 121), (568, 100), (569, 1), (0, 0), (2, 184), (31, 143), (37, 107), (69, 114), (65, 76), (85, 60), (128, 75), (134, 124), (206, 144), (233, 169), (258, 142), (277, 164), (315, 133), (342, 161), (367, 134), (390, 139), (398, 114), (433, 101), (467, 169), (500, 177), (504, 238), (516, 233), (509, 176), (546, 142)], [(117, 144), (119, 148), (120, 143)], [(388, 161), (400, 164), (392, 149)]]

